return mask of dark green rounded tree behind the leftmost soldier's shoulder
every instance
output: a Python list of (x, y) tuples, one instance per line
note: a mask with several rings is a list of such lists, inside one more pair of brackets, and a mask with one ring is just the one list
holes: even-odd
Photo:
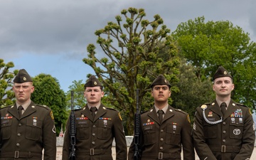
[(46, 105), (53, 110), (57, 135), (60, 132), (61, 124), (65, 128), (68, 113), (65, 110), (65, 93), (60, 90), (59, 82), (50, 75), (41, 73), (33, 78), (35, 90), (31, 95), (31, 100), (37, 104)]

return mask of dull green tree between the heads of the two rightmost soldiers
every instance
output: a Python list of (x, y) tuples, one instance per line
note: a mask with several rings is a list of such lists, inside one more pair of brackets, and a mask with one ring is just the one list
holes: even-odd
[(178, 90), (171, 92), (172, 106), (188, 112), (191, 124), (196, 107), (203, 105), (204, 102), (211, 102), (215, 97), (210, 78), (202, 82), (195, 73), (196, 69), (191, 64), (186, 63), (184, 59), (181, 60), (179, 81), (173, 84)]

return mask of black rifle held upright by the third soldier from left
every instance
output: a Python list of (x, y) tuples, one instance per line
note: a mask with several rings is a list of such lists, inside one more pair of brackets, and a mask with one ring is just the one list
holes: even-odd
[(136, 105), (136, 113), (134, 118), (134, 160), (141, 159), (141, 153), (139, 149), (139, 132), (140, 132), (140, 122), (141, 116), (139, 113), (139, 89), (137, 89), (137, 105)]

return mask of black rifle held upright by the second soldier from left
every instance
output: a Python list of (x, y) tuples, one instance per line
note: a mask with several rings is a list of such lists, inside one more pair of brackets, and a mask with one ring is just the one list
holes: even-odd
[(74, 91), (71, 90), (71, 113), (70, 113), (70, 160), (75, 160), (75, 110)]

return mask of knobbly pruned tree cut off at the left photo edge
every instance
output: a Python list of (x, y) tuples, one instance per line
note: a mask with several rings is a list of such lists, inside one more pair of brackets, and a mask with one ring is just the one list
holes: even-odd
[(12, 80), (18, 73), (18, 70), (10, 72), (10, 68), (14, 68), (13, 62), (4, 63), (4, 60), (0, 59), (0, 107), (14, 104), (15, 95), (14, 92), (12, 92)]

